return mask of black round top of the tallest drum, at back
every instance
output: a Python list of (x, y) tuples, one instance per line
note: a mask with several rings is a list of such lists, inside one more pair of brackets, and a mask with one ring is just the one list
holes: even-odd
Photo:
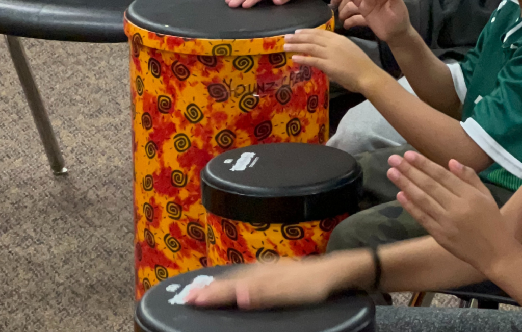
[(198, 39), (254, 39), (316, 28), (332, 16), (322, 0), (263, 0), (253, 8), (230, 8), (225, 0), (136, 0), (126, 17), (152, 32)]

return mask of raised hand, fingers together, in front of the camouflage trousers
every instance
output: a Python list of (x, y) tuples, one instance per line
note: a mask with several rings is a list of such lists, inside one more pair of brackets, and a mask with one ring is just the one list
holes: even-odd
[(404, 158), (392, 156), (388, 163), (388, 178), (401, 189), (400, 204), (447, 251), (487, 276), (520, 252), (515, 238), (519, 220), (502, 213), (471, 168), (452, 159), (448, 171), (413, 151)]

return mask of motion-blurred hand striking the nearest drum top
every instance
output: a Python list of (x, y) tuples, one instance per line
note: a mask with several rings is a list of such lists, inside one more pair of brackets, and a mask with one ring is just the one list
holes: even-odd
[(241, 309), (321, 302), (333, 287), (329, 264), (326, 258), (314, 257), (302, 262), (247, 265), (203, 289), (193, 290), (185, 301), (199, 306), (237, 303)]

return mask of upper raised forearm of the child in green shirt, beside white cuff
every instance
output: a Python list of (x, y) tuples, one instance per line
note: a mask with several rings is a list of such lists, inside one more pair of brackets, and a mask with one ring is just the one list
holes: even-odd
[(402, 73), (417, 96), (453, 118), (458, 118), (460, 100), (449, 68), (410, 26), (407, 33), (388, 42)]

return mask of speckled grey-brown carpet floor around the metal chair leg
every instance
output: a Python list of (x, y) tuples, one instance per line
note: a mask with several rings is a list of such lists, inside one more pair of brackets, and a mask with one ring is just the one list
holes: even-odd
[(23, 43), (69, 175), (50, 172), (0, 41), (0, 330), (131, 331), (127, 45)]

